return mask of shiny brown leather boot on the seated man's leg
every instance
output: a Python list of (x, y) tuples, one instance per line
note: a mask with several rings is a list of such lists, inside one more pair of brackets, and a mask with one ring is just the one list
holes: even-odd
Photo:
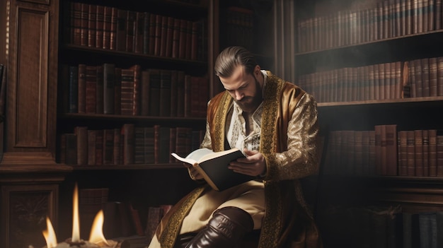
[(243, 209), (220, 208), (214, 212), (206, 228), (198, 232), (186, 248), (235, 247), (253, 227), (251, 215)]

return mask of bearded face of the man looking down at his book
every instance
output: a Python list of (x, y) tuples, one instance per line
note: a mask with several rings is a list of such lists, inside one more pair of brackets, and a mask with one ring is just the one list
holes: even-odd
[(258, 81), (261, 77), (260, 66), (255, 66), (253, 74), (246, 73), (244, 66), (237, 66), (230, 77), (220, 77), (220, 81), (244, 112), (253, 112), (263, 100)]

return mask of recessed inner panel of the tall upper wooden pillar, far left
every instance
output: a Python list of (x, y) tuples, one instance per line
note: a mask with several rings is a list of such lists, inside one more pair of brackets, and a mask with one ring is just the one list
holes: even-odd
[(16, 147), (46, 146), (48, 18), (47, 11), (18, 9)]

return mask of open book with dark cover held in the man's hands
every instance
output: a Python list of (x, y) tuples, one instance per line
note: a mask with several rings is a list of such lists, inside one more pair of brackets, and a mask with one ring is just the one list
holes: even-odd
[(236, 160), (237, 158), (245, 157), (238, 148), (232, 148), (220, 152), (213, 152), (207, 148), (200, 148), (189, 153), (186, 158), (182, 158), (176, 153), (171, 153), (171, 155), (173, 155), (174, 158), (195, 167), (212, 189), (217, 191), (222, 191), (255, 179), (253, 176), (244, 175), (228, 169), (229, 162)]

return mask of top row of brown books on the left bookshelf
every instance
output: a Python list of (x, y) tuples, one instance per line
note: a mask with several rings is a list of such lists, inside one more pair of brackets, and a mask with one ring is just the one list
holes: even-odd
[(205, 61), (205, 18), (185, 20), (111, 6), (71, 3), (73, 45)]

